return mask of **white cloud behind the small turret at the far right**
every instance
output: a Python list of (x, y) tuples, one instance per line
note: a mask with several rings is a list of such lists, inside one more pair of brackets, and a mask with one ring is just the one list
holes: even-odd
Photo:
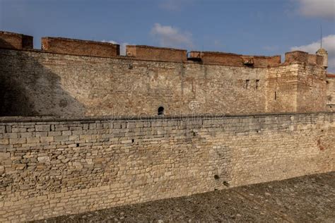
[[(291, 50), (301, 50), (310, 54), (315, 54), (320, 48), (320, 41), (312, 42), (311, 44), (300, 47), (292, 47)], [(322, 48), (328, 52), (328, 71), (335, 73), (335, 35), (328, 35), (322, 38)]]

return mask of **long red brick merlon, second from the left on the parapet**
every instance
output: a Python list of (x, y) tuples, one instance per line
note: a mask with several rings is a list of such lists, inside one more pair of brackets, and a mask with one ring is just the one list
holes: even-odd
[(42, 37), (42, 50), (59, 54), (115, 57), (119, 55), (119, 44), (74, 40), (59, 37)]

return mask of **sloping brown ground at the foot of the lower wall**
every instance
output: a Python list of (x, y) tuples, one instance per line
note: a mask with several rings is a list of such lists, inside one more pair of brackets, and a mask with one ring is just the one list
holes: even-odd
[(40, 222), (335, 222), (335, 171)]

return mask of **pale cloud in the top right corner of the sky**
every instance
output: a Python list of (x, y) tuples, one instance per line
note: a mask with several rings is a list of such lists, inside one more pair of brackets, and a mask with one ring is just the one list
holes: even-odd
[(327, 18), (334, 20), (335, 18), (335, 0), (298, 0), (299, 12), (303, 16)]

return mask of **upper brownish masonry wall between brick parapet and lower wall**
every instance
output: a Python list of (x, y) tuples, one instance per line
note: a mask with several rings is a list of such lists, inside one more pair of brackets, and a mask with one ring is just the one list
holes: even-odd
[(252, 68), (0, 49), (0, 86), (0, 116), (326, 110), (324, 68), (299, 61)]

